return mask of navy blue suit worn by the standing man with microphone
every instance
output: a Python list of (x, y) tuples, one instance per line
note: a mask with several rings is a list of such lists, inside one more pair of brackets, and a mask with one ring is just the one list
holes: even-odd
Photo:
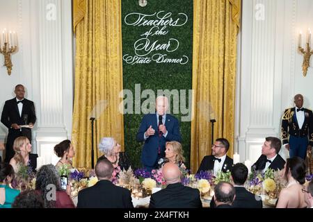
[[(168, 135), (166, 137), (159, 137), (157, 126), (157, 114), (145, 114), (141, 121), (141, 126), (138, 129), (137, 141), (145, 142), (143, 145), (143, 152), (141, 153), (141, 162), (144, 166), (157, 167), (159, 146), (161, 148), (161, 157), (164, 156), (165, 144), (168, 141), (182, 142), (182, 137), (179, 133), (179, 122), (170, 114), (166, 114), (166, 121), (164, 123)], [(146, 140), (144, 139), (145, 131), (152, 126), (155, 130), (154, 135), (151, 135)]]

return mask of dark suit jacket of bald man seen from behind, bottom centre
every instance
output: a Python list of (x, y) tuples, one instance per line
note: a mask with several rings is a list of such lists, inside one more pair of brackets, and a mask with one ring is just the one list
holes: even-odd
[(166, 189), (161, 189), (152, 194), (150, 198), (150, 208), (200, 208), (202, 202), (198, 189), (185, 187), (177, 182), (168, 185)]

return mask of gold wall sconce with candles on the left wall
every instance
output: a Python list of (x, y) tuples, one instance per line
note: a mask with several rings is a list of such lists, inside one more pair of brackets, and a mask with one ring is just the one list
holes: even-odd
[(17, 34), (15, 32), (6, 31), (6, 28), (1, 34), (0, 38), (0, 53), (4, 56), (4, 66), (10, 75), (12, 72), (11, 54), (17, 51)]

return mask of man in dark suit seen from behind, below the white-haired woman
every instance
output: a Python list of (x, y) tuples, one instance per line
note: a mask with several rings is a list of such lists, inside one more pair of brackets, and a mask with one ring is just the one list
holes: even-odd
[(99, 181), (93, 187), (79, 191), (77, 208), (134, 208), (131, 192), (113, 185), (112, 173), (113, 166), (109, 160), (98, 160), (95, 174)]

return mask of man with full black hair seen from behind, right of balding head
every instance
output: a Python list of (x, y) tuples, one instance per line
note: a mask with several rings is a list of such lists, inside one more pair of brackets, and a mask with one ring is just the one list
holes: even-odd
[[(245, 164), (238, 163), (232, 167), (232, 184), (236, 191), (236, 198), (232, 203), (234, 208), (262, 208), (262, 198), (250, 193), (245, 187), (244, 183), (248, 178), (248, 168)], [(214, 208), (214, 197), (211, 200), (210, 207)]]

